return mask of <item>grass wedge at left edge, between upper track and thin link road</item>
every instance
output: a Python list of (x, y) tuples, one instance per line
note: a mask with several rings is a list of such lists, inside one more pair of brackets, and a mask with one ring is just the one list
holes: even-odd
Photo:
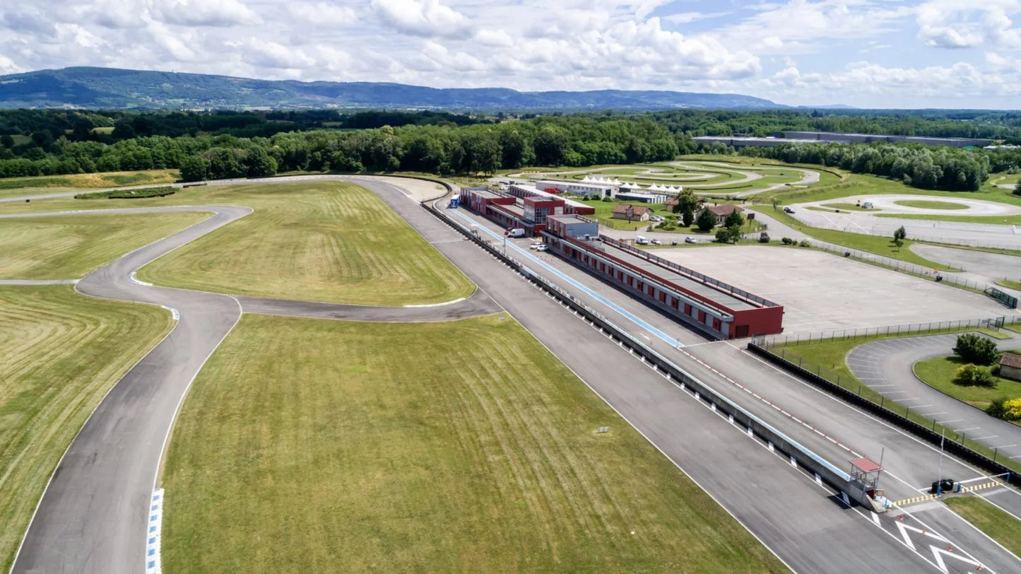
[(0, 279), (77, 279), (207, 217), (184, 212), (0, 219)]

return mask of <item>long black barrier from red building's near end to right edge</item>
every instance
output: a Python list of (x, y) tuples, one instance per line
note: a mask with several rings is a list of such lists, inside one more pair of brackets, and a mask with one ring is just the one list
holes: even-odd
[(925, 440), (926, 442), (938, 446), (940, 443), (943, 444), (943, 449), (946, 452), (957, 456), (958, 458), (979, 467), (990, 474), (1010, 474), (1008, 482), (1021, 486), (1021, 473), (1016, 472), (1014, 469), (1008, 468), (992, 459), (989, 459), (985, 455), (973, 450), (972, 448), (966, 446), (962, 442), (957, 440), (946, 438), (940, 433), (935, 432), (935, 425), (932, 428), (925, 427), (911, 419), (894, 413), (893, 411), (887, 409), (886, 406), (873, 402), (872, 400), (859, 395), (846, 389), (837, 383), (830, 381), (824, 377), (821, 377), (808, 369), (804, 369), (798, 365), (787, 361), (786, 358), (766, 349), (755, 342), (748, 343), (748, 350), (752, 353), (765, 358), (769, 363), (776, 365), (777, 367), (787, 371), (788, 373), (808, 381), (809, 383), (829, 392), (830, 394), (836, 395), (846, 402), (855, 404), (868, 411), (869, 413), (876, 415), (877, 417), (889, 422), (897, 427), (912, 433), (913, 435)]

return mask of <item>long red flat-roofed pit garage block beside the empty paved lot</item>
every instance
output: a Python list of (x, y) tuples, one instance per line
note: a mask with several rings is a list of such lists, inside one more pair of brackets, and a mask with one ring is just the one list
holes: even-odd
[[(598, 235), (593, 220), (549, 216), (541, 235), (550, 251), (712, 337), (733, 339), (783, 331), (783, 306)], [(591, 238), (591, 239), (587, 239)]]

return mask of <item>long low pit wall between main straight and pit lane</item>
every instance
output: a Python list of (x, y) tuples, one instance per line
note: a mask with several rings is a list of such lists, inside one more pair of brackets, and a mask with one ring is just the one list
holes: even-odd
[(561, 289), (553, 282), (536, 274), (526, 266), (506, 255), (500, 249), (493, 247), (481, 238), (473, 235), (460, 224), (448, 218), (442, 209), (438, 209), (431, 204), (423, 202), (422, 207), (434, 214), (441, 222), (447, 224), (458, 233), (475, 242), (491, 255), (502, 261), (510, 269), (518, 272), (528, 281), (549, 293), (562, 304), (580, 317), (583, 321), (597, 329), (601, 334), (607, 336), (622, 348), (636, 355), (646, 365), (650, 365), (653, 371), (665, 374), (667, 380), (674, 382), (681, 389), (688, 389), (696, 400), (710, 405), (714, 411), (722, 413), (728, 420), (736, 426), (740, 426), (749, 436), (758, 436), (764, 440), (773, 450), (786, 455), (793, 466), (800, 466), (803, 469), (813, 473), (821, 480), (825, 480), (831, 486), (841, 492), (852, 495), (849, 489), (852, 477), (846, 472), (840, 470), (829, 461), (809, 450), (797, 441), (787, 437), (779, 430), (773, 428), (769, 423), (759, 419), (755, 415), (743, 410), (735, 402), (719, 394), (712, 387), (706, 385), (694, 376), (684, 371), (670, 360), (661, 355), (651, 347), (646, 346), (641, 341), (632, 337), (627, 331), (615, 325), (612, 321), (602, 317), (594, 309), (576, 299), (573, 295)]

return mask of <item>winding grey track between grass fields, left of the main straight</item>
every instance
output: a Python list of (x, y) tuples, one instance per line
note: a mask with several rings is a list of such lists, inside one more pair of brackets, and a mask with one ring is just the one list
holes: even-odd
[(11, 572), (143, 570), (146, 511), (178, 408), (199, 370), (243, 313), (426, 322), (500, 310), (481, 290), (447, 304), (371, 307), (234, 297), (157, 287), (134, 279), (142, 266), (247, 216), (252, 211), (248, 207), (139, 207), (9, 217), (154, 211), (211, 211), (213, 216), (86, 275), (76, 289), (89, 296), (162, 305), (175, 314), (178, 323), (110, 389), (83, 425), (50, 477)]

